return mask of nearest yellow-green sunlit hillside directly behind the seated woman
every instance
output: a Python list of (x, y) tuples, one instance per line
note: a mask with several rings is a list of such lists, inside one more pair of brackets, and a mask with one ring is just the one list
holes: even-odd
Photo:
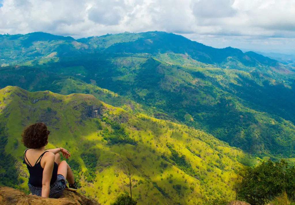
[(238, 161), (246, 157), (212, 135), (132, 115), (92, 95), (31, 93), (8, 86), (0, 90), (0, 110), (1, 146), (7, 155), (1, 153), (1, 183), (16, 182), (21, 189), (26, 189), (28, 173), (21, 163), (25, 148), (20, 135), (25, 126), (40, 121), (51, 130), (46, 148), (68, 149), (68, 163), (80, 177), (79, 192), (102, 204), (127, 191), (119, 166), (125, 149), (136, 168), (132, 192), (138, 204), (184, 204), (189, 199), (188, 204), (195, 204), (201, 196), (232, 195), (243, 170)]

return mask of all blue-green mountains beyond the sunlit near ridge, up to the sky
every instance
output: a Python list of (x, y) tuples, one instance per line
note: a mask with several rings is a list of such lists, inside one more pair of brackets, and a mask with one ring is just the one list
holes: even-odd
[(1, 56), (10, 53), (0, 68), (0, 88), (92, 94), (132, 114), (204, 130), (254, 156), (295, 157), (291, 65), (165, 32), (78, 40), (30, 33), (1, 39), (1, 45), (20, 42), (22, 53), (18, 60), (11, 55), (18, 48), (0, 50)]

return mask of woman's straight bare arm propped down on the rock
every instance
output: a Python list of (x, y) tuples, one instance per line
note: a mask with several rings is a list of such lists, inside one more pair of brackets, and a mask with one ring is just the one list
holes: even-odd
[[(49, 152), (50, 153), (50, 152)], [(50, 180), (52, 177), (53, 166), (54, 166), (54, 159), (55, 155), (50, 153), (46, 154), (45, 165), (43, 170), (43, 177), (42, 177), (42, 197), (49, 197), (50, 192)]]

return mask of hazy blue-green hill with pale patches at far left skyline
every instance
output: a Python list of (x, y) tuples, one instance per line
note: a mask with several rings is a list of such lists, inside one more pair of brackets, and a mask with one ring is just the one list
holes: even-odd
[(71, 37), (35, 32), (26, 35), (0, 35), (0, 64), (31, 64), (35, 59), (55, 62), (58, 55), (80, 54), (88, 46)]

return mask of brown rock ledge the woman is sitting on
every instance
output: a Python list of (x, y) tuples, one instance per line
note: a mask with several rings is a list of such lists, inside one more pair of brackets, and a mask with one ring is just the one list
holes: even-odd
[(68, 190), (58, 198), (43, 198), (36, 195), (26, 195), (24, 192), (10, 187), (0, 187), (1, 205), (100, 205), (94, 199), (86, 198), (79, 193)]

